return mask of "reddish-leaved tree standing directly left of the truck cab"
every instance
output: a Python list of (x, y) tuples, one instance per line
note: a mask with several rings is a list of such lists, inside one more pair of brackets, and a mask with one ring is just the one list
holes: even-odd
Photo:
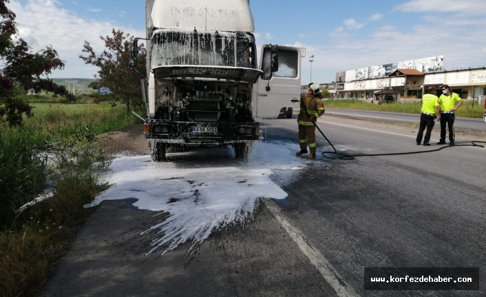
[[(134, 37), (124, 33), (121, 30), (112, 30), (112, 37), (101, 36), (105, 42), (106, 49), (97, 55), (88, 41), (85, 41), (83, 52), (87, 56), (80, 55), (79, 58), (86, 64), (95, 65), (99, 68), (98, 79), (99, 85), (103, 85), (112, 90), (112, 98), (116, 101), (123, 101), (127, 107), (142, 103), (142, 88), (140, 79), (142, 76), (136, 71), (129, 68), (130, 46)], [(147, 50), (144, 45), (139, 45), (138, 63), (136, 70), (145, 73), (145, 57)]]

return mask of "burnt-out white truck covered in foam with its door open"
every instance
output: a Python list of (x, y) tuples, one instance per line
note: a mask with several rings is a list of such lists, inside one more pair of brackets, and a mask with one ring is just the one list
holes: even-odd
[[(264, 45), (258, 67), (249, 0), (147, 0), (146, 22), (152, 160), (167, 161), (169, 147), (232, 145), (247, 156), (255, 117), (298, 106), (302, 49)], [(133, 66), (138, 39), (131, 48)]]

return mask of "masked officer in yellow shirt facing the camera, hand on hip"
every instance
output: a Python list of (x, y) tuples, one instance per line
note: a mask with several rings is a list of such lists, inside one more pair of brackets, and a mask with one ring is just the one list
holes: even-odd
[[(452, 93), (449, 85), (442, 86), (442, 95), (439, 98), (441, 103), (441, 141), (438, 145), (445, 145), (445, 125), (449, 126), (449, 141), (450, 145), (456, 144), (456, 134), (454, 132), (454, 119), (456, 119), (455, 110), (463, 104), (461, 97)], [(456, 101), (458, 102), (456, 106)]]

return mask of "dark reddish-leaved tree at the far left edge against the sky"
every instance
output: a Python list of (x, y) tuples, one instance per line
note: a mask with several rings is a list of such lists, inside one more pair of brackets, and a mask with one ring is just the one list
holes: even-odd
[[(21, 125), (23, 114), (33, 116), (28, 103), (14, 99), (14, 89), (45, 91), (66, 96), (74, 101), (66, 88), (56, 85), (48, 74), (52, 70), (62, 70), (64, 62), (52, 46), (32, 52), (32, 48), (21, 38), (17, 38), (16, 15), (6, 6), (9, 0), (0, 0), (0, 59), (5, 67), (0, 70), (0, 121), (10, 125)], [(45, 76), (46, 78), (42, 78)]]

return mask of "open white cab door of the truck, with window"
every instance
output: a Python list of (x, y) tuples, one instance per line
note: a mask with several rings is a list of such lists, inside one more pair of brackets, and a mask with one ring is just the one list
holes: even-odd
[[(274, 45), (275, 46), (275, 45)], [(260, 119), (276, 119), (282, 107), (299, 110), (301, 96), (301, 57), (305, 49), (278, 46), (278, 70), (272, 72), (271, 45), (262, 47), (262, 76), (253, 89), (253, 112)]]

